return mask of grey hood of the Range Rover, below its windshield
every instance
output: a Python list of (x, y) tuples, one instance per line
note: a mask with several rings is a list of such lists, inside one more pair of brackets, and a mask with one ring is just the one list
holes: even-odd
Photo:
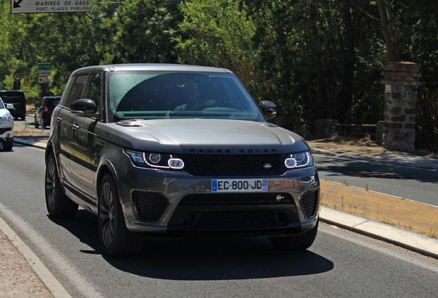
[(107, 137), (134, 150), (206, 154), (309, 150), (302, 137), (272, 123), (230, 119), (157, 119), (110, 124)]

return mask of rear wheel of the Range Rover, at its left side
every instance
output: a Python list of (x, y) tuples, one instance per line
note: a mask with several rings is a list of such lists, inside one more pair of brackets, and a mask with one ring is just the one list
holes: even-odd
[(78, 212), (78, 204), (63, 192), (53, 152), (45, 166), (45, 206), (51, 217), (74, 217)]

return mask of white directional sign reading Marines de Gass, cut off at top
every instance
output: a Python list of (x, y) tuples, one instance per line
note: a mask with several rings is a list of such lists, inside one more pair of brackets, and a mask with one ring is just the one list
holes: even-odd
[(11, 0), (11, 13), (90, 12), (92, 0)]

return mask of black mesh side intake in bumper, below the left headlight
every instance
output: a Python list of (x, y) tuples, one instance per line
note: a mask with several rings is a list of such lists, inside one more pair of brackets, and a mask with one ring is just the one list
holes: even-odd
[(134, 193), (134, 208), (142, 221), (158, 221), (166, 205), (167, 199), (162, 195), (148, 192)]

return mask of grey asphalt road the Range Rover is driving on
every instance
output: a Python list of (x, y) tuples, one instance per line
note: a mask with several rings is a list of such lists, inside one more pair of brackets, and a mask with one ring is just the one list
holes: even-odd
[(436, 297), (438, 260), (321, 224), (306, 252), (266, 237), (154, 241), (141, 257), (103, 257), (96, 217), (52, 220), (43, 150), (0, 150), (0, 216), (73, 297)]

